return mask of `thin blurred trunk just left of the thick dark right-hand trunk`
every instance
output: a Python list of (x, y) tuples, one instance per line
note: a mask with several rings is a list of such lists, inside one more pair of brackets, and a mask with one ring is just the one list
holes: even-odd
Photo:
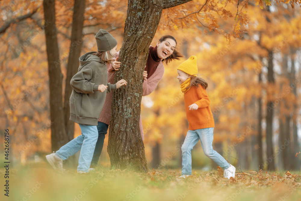
[(262, 160), (262, 127), (261, 127), (261, 122), (262, 122), (262, 95), (261, 95), (261, 84), (262, 84), (262, 78), (261, 78), (261, 70), (259, 71), (258, 74), (258, 83), (260, 85), (260, 93), (259, 93), (259, 98), (258, 98), (258, 137), (257, 137), (257, 143), (258, 143), (258, 162), (259, 162), (259, 169), (263, 168), (263, 160)]

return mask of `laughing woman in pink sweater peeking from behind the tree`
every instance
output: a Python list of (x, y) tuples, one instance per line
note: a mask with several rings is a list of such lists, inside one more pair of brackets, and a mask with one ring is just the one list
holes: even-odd
[[(157, 42), (155, 47), (150, 46), (146, 66), (143, 73), (143, 93), (142, 96), (147, 96), (152, 93), (158, 82), (161, 80), (164, 74), (163, 62), (166, 64), (173, 59), (179, 60), (179, 57), (182, 57), (176, 50), (177, 41), (173, 36), (165, 35), (162, 36)], [(120, 51), (119, 51), (120, 52)], [(108, 70), (108, 82), (113, 82), (115, 77), (115, 72), (120, 68), (120, 62), (118, 61), (119, 52), (113, 58), (113, 66), (107, 64)], [(112, 103), (112, 93), (107, 94), (104, 108), (101, 112), (100, 118), (98, 119), (98, 140), (95, 146), (93, 159), (90, 165), (90, 171), (93, 171), (97, 166), (99, 156), (101, 154), (102, 148), (104, 146), (105, 134), (110, 124), (111, 118), (111, 103)], [(144, 140), (143, 129), (142, 129), (142, 120), (140, 116), (140, 132), (142, 140)]]

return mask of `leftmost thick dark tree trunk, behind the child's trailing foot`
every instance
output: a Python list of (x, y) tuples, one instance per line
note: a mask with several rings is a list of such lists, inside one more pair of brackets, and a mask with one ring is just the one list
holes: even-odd
[(67, 141), (64, 121), (61, 66), (57, 44), (57, 30), (55, 26), (55, 1), (44, 0), (44, 18), (49, 22), (45, 26), (46, 50), (48, 57), (50, 118), (51, 118), (51, 146), (56, 151)]

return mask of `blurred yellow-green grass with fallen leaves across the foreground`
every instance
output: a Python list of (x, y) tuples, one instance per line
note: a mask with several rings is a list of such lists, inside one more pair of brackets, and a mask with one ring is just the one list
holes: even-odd
[[(5, 182), (1, 169), (1, 184)], [(150, 170), (147, 174), (105, 170), (77, 174), (58, 174), (45, 163), (22, 169), (10, 169), (9, 197), (0, 200), (39, 201), (231, 201), (231, 200), (301, 200), (301, 175), (289, 172), (236, 173), (225, 179), (221, 170), (195, 171), (180, 179), (180, 170)]]

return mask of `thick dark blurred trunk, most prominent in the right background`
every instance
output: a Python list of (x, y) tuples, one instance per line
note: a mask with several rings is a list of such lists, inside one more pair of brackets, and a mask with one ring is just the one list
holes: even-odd
[[(273, 52), (268, 51), (268, 83), (270, 86), (274, 87), (274, 72), (273, 72)], [(267, 89), (268, 90), (268, 89)], [(266, 146), (267, 146), (267, 160), (268, 160), (268, 170), (275, 170), (275, 155), (273, 150), (273, 102), (271, 92), (268, 92), (268, 104), (267, 104), (267, 114), (266, 114)]]

